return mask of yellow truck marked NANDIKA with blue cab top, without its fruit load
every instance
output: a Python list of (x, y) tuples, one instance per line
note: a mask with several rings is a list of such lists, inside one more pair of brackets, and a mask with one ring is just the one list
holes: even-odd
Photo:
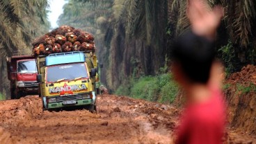
[(93, 51), (38, 55), (36, 66), (43, 110), (86, 107), (97, 111), (99, 73)]

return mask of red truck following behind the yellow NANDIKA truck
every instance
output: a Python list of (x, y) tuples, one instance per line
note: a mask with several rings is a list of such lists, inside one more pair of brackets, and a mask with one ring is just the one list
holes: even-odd
[(10, 98), (18, 99), (27, 94), (38, 94), (38, 73), (35, 58), (31, 55), (6, 57)]

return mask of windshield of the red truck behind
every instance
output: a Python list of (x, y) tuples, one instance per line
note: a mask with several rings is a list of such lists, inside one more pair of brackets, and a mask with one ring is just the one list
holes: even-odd
[(19, 61), (18, 73), (37, 73), (35, 60)]

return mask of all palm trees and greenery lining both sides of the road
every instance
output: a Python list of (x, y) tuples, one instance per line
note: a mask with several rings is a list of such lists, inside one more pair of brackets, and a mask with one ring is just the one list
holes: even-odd
[[(256, 2), (207, 0), (207, 3), (209, 9), (216, 4), (225, 8), (216, 49), (227, 73), (239, 71), (245, 64), (255, 64)], [(95, 35), (99, 62), (104, 64), (101, 80), (110, 90), (118, 92), (119, 87), (123, 91), (129, 86), (125, 90), (131, 96), (161, 101), (165, 100), (162, 95), (167, 96), (164, 93), (169, 86), (176, 89), (166, 69), (161, 74), (159, 69), (171, 60), (173, 39), (189, 29), (186, 4), (186, 0), (69, 0), (58, 24)], [(8, 88), (4, 57), (15, 52), (30, 53), (28, 47), (33, 37), (49, 29), (47, 6), (47, 0), (0, 2), (0, 74), (3, 75), (0, 91), (3, 94)], [(143, 93), (137, 87), (149, 91)], [(172, 96), (168, 98), (171, 101)]]

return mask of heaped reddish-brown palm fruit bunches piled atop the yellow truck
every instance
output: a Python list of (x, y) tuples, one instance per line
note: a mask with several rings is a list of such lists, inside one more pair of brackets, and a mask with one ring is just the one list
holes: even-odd
[(49, 55), (69, 51), (95, 51), (94, 37), (72, 26), (61, 26), (32, 42), (32, 55)]

